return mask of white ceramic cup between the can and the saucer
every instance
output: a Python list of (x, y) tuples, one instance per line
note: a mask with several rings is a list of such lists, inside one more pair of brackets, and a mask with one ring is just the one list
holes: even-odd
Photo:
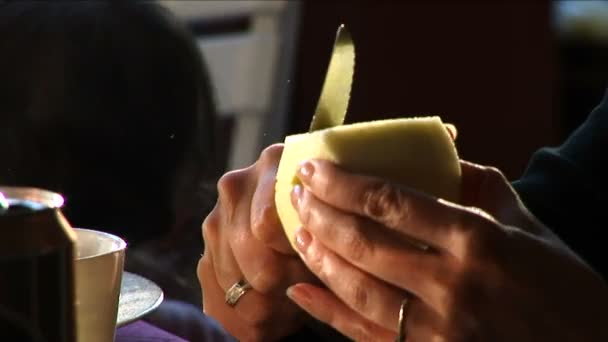
[(101, 231), (76, 231), (76, 329), (79, 342), (111, 342), (127, 244)]

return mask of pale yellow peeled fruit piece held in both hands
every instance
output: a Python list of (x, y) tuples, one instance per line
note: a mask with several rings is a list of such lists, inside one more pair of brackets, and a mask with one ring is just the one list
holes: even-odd
[(298, 165), (313, 158), (449, 201), (460, 197), (458, 154), (439, 117), (379, 120), (290, 135), (277, 172), (275, 204), (294, 248), (301, 223), (291, 204), (291, 190), (299, 182)]

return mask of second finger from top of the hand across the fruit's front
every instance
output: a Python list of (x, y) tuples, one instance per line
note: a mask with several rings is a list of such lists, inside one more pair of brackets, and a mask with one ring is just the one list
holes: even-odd
[(455, 266), (449, 255), (416, 248), (401, 234), (330, 207), (301, 187), (295, 189), (300, 189), (300, 196), (295, 195), (297, 191), (292, 196), (300, 221), (322, 246), (364, 272), (425, 301), (444, 297), (452, 273), (449, 266)]

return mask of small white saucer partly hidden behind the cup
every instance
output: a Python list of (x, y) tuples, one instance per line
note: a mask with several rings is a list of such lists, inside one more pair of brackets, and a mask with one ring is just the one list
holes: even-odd
[(154, 311), (163, 301), (163, 290), (137, 274), (124, 272), (118, 300), (116, 326), (121, 327)]

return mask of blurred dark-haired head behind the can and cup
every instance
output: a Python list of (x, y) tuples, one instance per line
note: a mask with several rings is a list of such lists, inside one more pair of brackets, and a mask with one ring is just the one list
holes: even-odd
[(0, 184), (64, 194), (74, 226), (154, 237), (220, 171), (213, 128), (202, 56), (160, 5), (0, 3)]

